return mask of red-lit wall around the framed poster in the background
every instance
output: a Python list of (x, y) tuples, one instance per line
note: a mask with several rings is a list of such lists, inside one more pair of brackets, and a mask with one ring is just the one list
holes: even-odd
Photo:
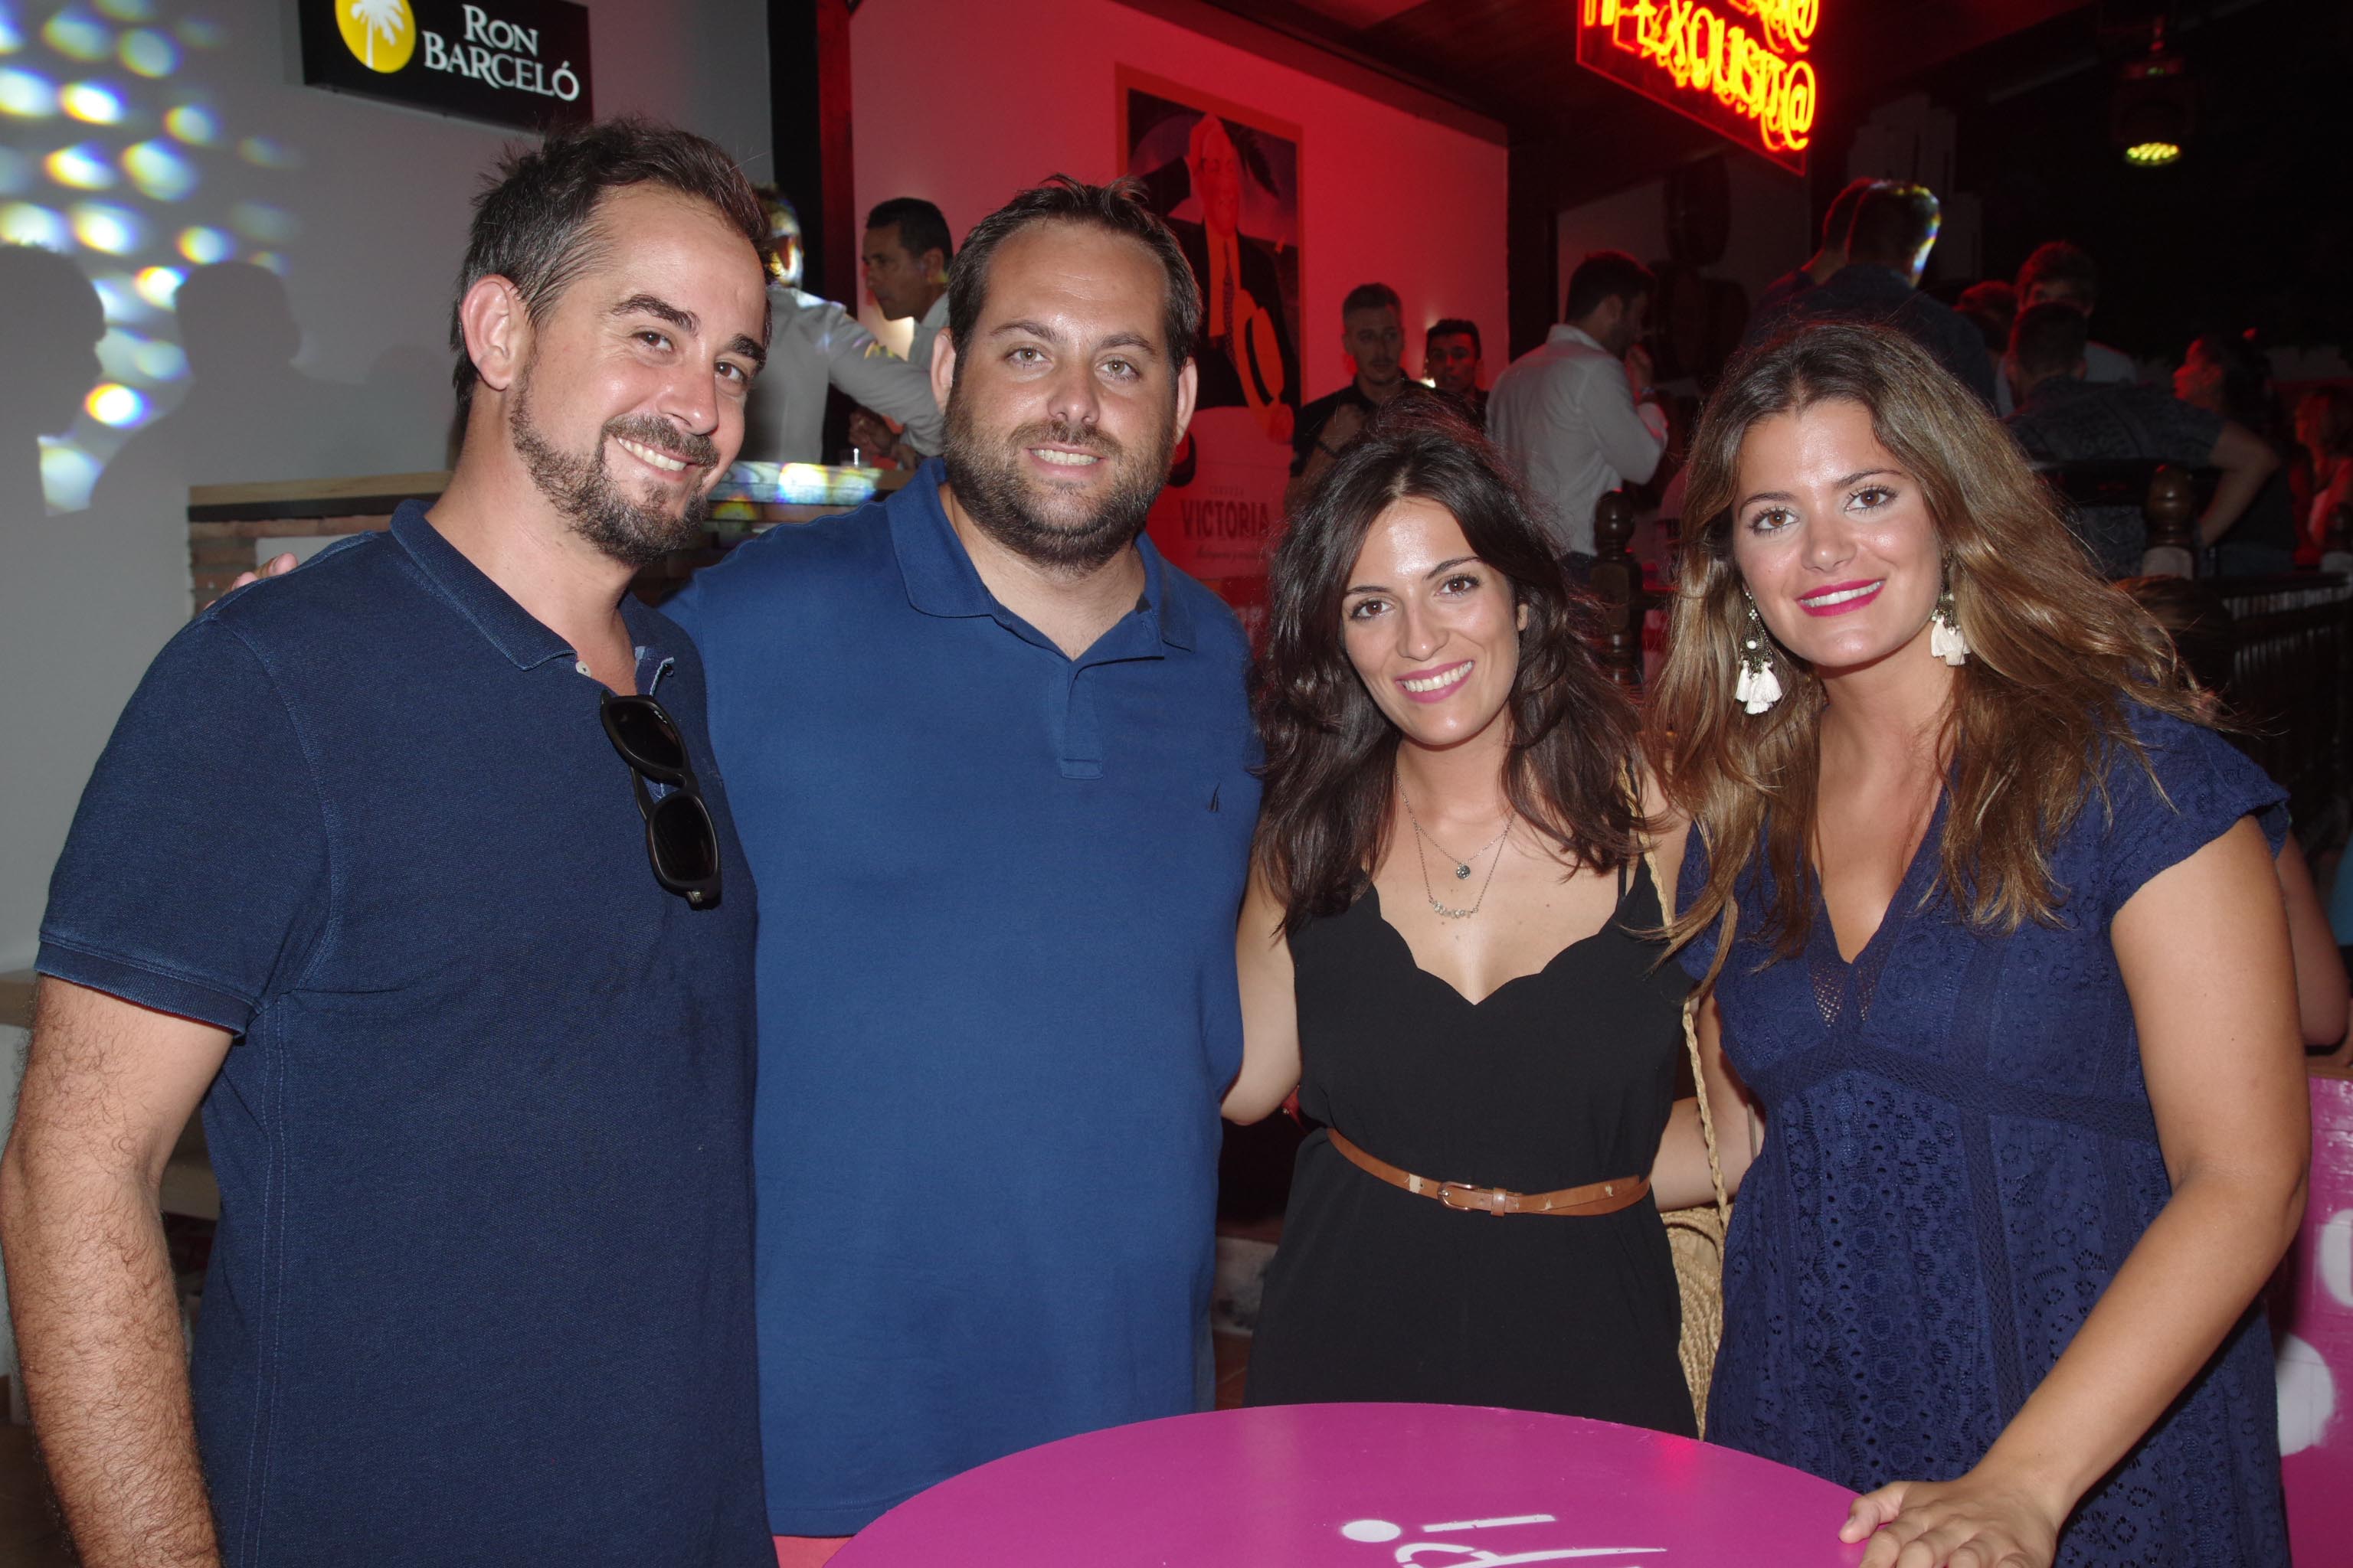
[(1348, 376), (1339, 301), (1360, 282), (1388, 282), (1405, 299), (1407, 369), (1421, 369), (1421, 329), (1445, 315), (1475, 320), (1487, 369), (1504, 367), (1501, 146), (1115, 0), (1026, 0), (1019, 16), (1007, 26), (1002, 7), (972, 0), (856, 9), (861, 216), (885, 197), (920, 195), (962, 240), (1047, 174), (1111, 179), (1120, 172), (1113, 73), (1134, 66), (1301, 129), (1306, 397)]

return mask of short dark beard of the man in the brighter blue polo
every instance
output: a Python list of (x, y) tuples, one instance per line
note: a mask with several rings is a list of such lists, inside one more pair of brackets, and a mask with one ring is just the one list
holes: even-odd
[[(1024, 449), (1045, 444), (1092, 451), (1113, 465), (1118, 482), (1092, 515), (1068, 522), (1045, 515), (1052, 498), (1040, 496), (1021, 473)], [(948, 489), (988, 538), (1049, 571), (1085, 576), (1144, 531), (1144, 517), (1167, 484), (1174, 444), (1174, 433), (1162, 428), (1148, 447), (1129, 451), (1101, 430), (1056, 421), (1021, 425), (998, 444), (972, 418), (972, 400), (951, 390), (948, 440), (939, 456), (948, 468)]]

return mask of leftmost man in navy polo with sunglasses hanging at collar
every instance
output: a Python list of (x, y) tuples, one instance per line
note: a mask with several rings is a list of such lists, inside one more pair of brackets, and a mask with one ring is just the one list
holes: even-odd
[[(447, 494), (198, 616), (122, 715), (0, 1166), (85, 1563), (774, 1561), (753, 879), (694, 649), (624, 597), (741, 442), (765, 244), (699, 136), (511, 158)], [(155, 1190), (200, 1095), (191, 1413)]]

